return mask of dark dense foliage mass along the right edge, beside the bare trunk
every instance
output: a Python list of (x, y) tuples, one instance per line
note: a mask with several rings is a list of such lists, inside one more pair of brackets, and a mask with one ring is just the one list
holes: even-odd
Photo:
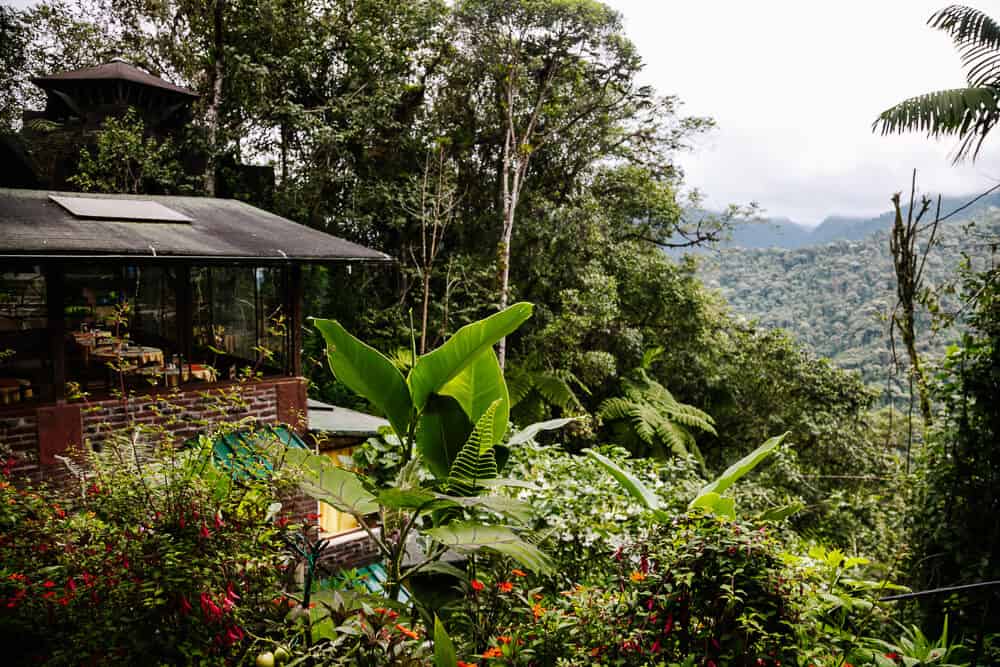
[[(918, 464), (909, 533), (914, 545), (914, 585), (935, 588), (1000, 577), (994, 555), (1000, 528), (992, 521), (1000, 459), (1000, 273), (965, 276), (969, 331), (950, 348), (933, 392), (943, 405)], [(923, 603), (935, 623), (949, 613), (957, 624), (974, 623), (960, 599)], [(986, 629), (995, 632), (991, 619)]]

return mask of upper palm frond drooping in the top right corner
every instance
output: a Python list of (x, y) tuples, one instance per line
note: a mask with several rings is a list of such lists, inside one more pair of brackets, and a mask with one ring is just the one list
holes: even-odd
[(1000, 24), (972, 7), (952, 5), (935, 12), (928, 25), (955, 42), (969, 86), (996, 86), (1000, 75)]

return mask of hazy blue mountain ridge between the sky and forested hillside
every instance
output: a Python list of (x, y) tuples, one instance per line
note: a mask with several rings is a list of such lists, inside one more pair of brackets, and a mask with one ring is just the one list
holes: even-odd
[[(941, 216), (944, 217), (956, 209), (968, 204), (976, 195), (941, 198)], [(937, 199), (931, 204), (931, 210), (924, 215), (924, 220), (933, 220)], [(977, 213), (991, 207), (1000, 207), (1000, 191), (994, 192), (976, 201), (962, 210), (951, 220), (967, 220)], [(903, 207), (903, 215), (909, 211), (909, 204)], [(886, 211), (874, 218), (863, 216), (830, 215), (815, 227), (807, 227), (786, 217), (769, 218), (762, 222), (747, 222), (738, 224), (733, 230), (730, 240), (720, 244), (723, 248), (786, 248), (796, 249), (814, 245), (822, 245), (833, 241), (859, 241), (877, 232), (886, 231), (892, 227), (895, 213)]]

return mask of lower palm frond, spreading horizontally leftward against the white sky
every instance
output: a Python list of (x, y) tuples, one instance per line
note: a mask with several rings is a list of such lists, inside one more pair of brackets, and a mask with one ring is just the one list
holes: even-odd
[(875, 120), (873, 131), (885, 134), (926, 132), (927, 136), (957, 136), (955, 162), (969, 155), (975, 159), (986, 135), (1000, 121), (1000, 88), (957, 88), (927, 93), (886, 109)]

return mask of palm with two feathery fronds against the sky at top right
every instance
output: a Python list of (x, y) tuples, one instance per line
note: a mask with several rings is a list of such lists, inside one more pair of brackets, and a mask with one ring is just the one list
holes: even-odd
[(911, 97), (883, 111), (872, 126), (882, 134), (921, 131), (959, 139), (954, 162), (979, 149), (1000, 121), (1000, 24), (971, 7), (951, 5), (927, 21), (955, 42), (966, 70), (964, 88)]

